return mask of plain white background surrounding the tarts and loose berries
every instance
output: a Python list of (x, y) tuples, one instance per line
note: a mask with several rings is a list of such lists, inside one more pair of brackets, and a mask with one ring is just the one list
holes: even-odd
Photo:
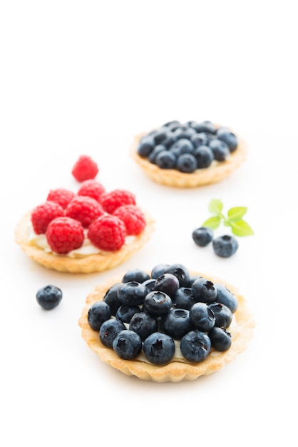
[[(287, 0), (1, 1), (2, 446), (297, 446), (296, 17)], [(247, 161), (213, 186), (153, 184), (129, 146), (172, 119), (231, 126)], [(17, 221), (49, 189), (78, 188), (71, 168), (81, 154), (96, 160), (106, 189), (133, 191), (156, 221), (130, 261), (88, 276), (48, 271), (14, 242)], [(210, 199), (225, 211), (248, 207), (255, 236), (232, 258), (192, 241)], [(216, 274), (245, 294), (255, 336), (222, 371), (140, 381), (81, 338), (78, 318), (97, 283), (160, 262)], [(35, 299), (47, 283), (63, 291), (49, 312)]]

